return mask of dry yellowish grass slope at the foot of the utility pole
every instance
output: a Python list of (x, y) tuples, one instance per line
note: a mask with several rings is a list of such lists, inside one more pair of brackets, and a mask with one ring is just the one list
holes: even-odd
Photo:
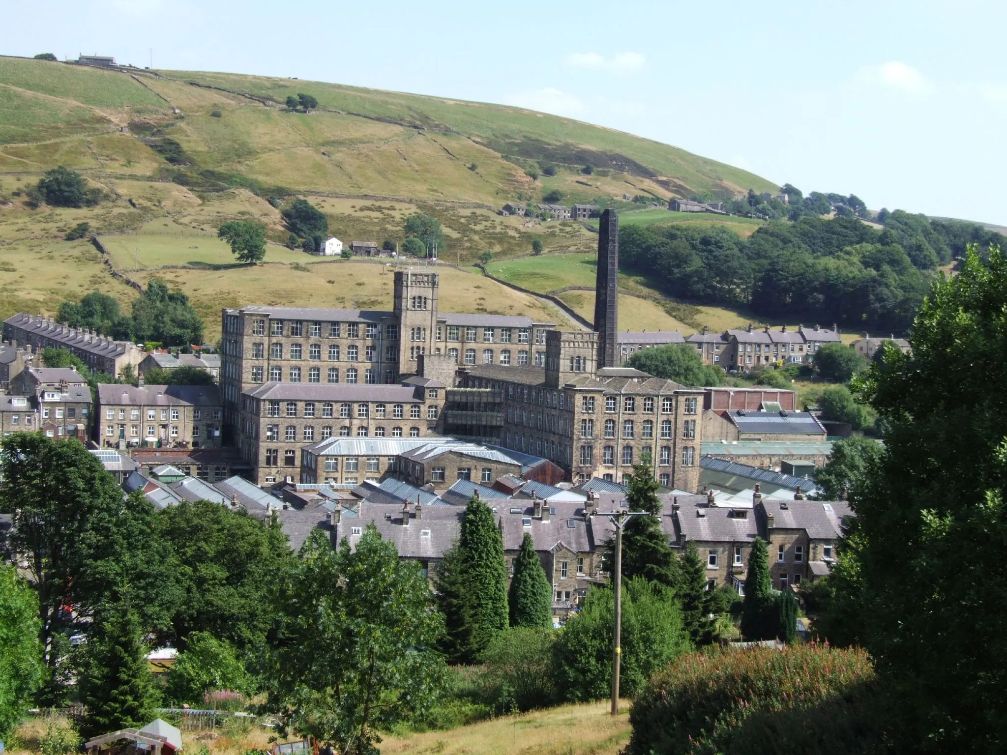
[(608, 703), (561, 706), (483, 721), (452, 731), (386, 737), (382, 755), (616, 755), (629, 741), (625, 711), (613, 718)]

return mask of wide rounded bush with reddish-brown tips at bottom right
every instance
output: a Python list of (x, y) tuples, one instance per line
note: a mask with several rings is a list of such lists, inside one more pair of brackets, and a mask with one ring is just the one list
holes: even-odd
[[(874, 668), (860, 649), (808, 644), (785, 650), (689, 653), (655, 674), (633, 702), (629, 712), (632, 736), (625, 752), (858, 751), (827, 735), (860, 738), (860, 745), (872, 741), (873, 735), (851, 732), (836, 719), (848, 713), (839, 708), (861, 700), (873, 680)], [(858, 714), (866, 711), (862, 705), (855, 708)], [(814, 711), (816, 715), (809, 715)], [(858, 718), (865, 717), (845, 716), (842, 723), (849, 725)], [(773, 719), (788, 719), (793, 727), (774, 726)], [(810, 731), (809, 725), (818, 730)], [(810, 749), (781, 746), (782, 741), (799, 738)], [(866, 750), (861, 747), (859, 751)]]

